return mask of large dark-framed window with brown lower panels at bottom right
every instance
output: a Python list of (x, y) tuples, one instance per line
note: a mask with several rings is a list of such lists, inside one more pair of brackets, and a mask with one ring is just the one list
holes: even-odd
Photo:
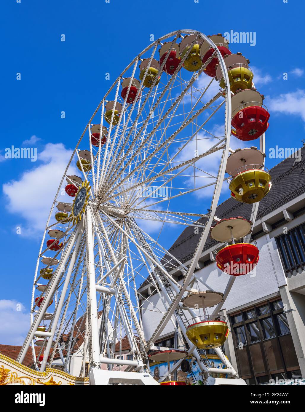
[[(300, 366), (281, 299), (230, 316), (239, 376), (249, 385), (300, 375)], [(293, 372), (292, 372), (293, 371)]]

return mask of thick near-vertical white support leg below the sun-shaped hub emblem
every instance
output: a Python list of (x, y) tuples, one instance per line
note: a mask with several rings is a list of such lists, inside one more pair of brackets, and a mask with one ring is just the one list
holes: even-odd
[(99, 325), (95, 287), (94, 267), (94, 241), (92, 233), (92, 214), (89, 207), (86, 208), (86, 239), (87, 239), (87, 311), (89, 332), (89, 364), (100, 364)]

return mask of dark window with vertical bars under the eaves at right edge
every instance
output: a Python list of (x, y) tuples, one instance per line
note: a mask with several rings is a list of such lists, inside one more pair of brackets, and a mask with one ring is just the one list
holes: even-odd
[(293, 273), (305, 266), (305, 224), (289, 230), (276, 238), (286, 272)]

